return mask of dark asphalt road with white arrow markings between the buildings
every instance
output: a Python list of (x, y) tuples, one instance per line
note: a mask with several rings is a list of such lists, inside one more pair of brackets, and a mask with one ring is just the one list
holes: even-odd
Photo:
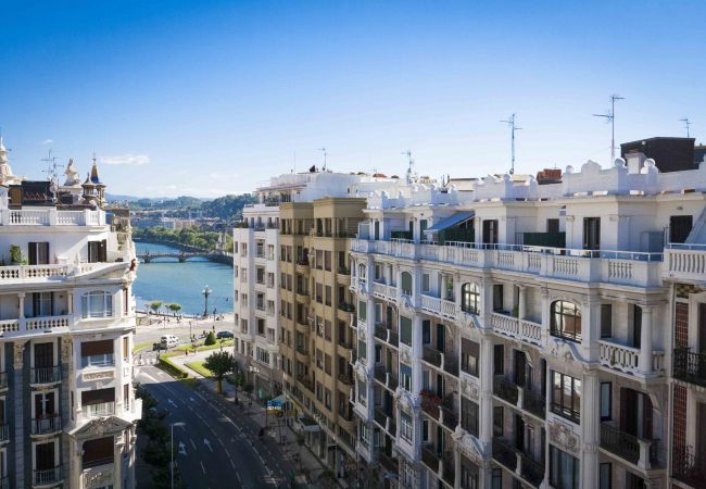
[(260, 439), (260, 426), (240, 408), (205, 388), (190, 389), (153, 366), (139, 367), (137, 381), (168, 411), (168, 423), (186, 424), (174, 428), (174, 446), (189, 489), (290, 487), (287, 476), (297, 448), (278, 446), (276, 432)]

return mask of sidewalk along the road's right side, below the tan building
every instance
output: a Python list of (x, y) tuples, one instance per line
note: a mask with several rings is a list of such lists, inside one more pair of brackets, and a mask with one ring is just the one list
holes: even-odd
[[(178, 364), (179, 366), (184, 366), (184, 369), (188, 371), (189, 375), (199, 379), (200, 386), (215, 393), (216, 383), (214, 380), (203, 377), (199, 373), (190, 369), (188, 366), (185, 365), (191, 362), (203, 362), (211, 353), (215, 351), (218, 350), (216, 349), (210, 351), (202, 351), (196, 354), (191, 353), (188, 356), (187, 355), (171, 356), (169, 360), (175, 364)], [(224, 380), (222, 399), (224, 399), (224, 401), (230, 404), (235, 404), (234, 402), (235, 396), (236, 396), (236, 386), (232, 386)], [(298, 473), (295, 478), (295, 484), (298, 487), (307, 487), (311, 480), (316, 480), (316, 478), (326, 469), (326, 467), (322, 464), (322, 462), (316, 457), (316, 455), (314, 455), (314, 453), (306, 446), (302, 446), (300, 450), (300, 447), (297, 444), (297, 434), (291, 427), (293, 421), (290, 421), (290, 423), (286, 425), (285, 424), (286, 421), (279, 418), (281, 421), (279, 422), (278, 425), (278, 418), (276, 416), (272, 414), (265, 416), (265, 408), (260, 403), (260, 401), (253, 400), (252, 402), (250, 402), (245, 392), (242, 392), (240, 390), (238, 390), (238, 401), (240, 405), (243, 408), (241, 411), (237, 412), (238, 415), (248, 416), (253, 422), (255, 422), (259, 426), (262, 427), (265, 427), (265, 419), (267, 419), (267, 425), (268, 425), (268, 429), (266, 430), (267, 436), (272, 437), (272, 439), (280, 447), (281, 451), (286, 455), (291, 454), (291, 455), (297, 455), (297, 457), (299, 457), (299, 454), (301, 453), (301, 471), (298, 461), (292, 460), (291, 462), (294, 465)], [(281, 432), (281, 440), (279, 439), (280, 432)], [(300, 472), (307, 473), (308, 480), (306, 480), (306, 477), (303, 474), (299, 474)]]

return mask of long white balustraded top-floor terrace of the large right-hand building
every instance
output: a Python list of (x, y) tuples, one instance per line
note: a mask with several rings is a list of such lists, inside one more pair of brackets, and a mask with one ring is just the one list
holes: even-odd
[[(351, 249), (353, 252), (360, 253), (425, 260), (464, 268), (504, 269), (581, 283), (609, 283), (639, 287), (656, 287), (661, 283), (661, 253), (587, 251), (458, 241), (429, 244), (403, 240), (369, 241), (365, 239), (354, 239)], [(706, 259), (702, 258), (701, 260), (706, 263)], [(690, 273), (692, 279), (696, 279), (697, 267), (688, 266), (686, 269), (693, 269)]]

